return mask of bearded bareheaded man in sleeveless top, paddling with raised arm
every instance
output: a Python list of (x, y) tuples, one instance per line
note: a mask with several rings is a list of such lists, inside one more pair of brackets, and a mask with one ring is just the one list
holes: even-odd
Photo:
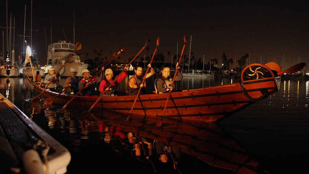
[[(150, 67), (150, 72), (146, 74), (146, 79), (155, 74), (155, 70), (151, 67), (150, 64), (148, 64), (148, 67)], [(142, 87), (140, 94), (145, 94), (146, 83), (142, 83), (144, 78), (142, 75), (143, 68), (140, 65), (136, 65), (134, 67), (134, 72), (135, 74), (129, 80), (129, 95), (137, 95), (140, 87)]]

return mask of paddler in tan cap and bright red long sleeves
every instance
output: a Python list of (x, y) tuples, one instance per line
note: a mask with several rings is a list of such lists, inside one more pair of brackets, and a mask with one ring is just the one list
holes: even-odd
[(121, 80), (125, 79), (125, 77), (128, 75), (128, 72), (125, 70), (123, 73), (120, 74), (118, 79), (115, 81), (115, 83), (112, 84), (112, 86), (109, 88), (108, 86), (114, 81), (114, 74), (113, 71), (108, 68), (105, 70), (105, 79), (103, 79), (100, 83), (99, 91), (105, 94), (103, 96), (117, 96), (118, 95), (118, 83), (121, 82)]

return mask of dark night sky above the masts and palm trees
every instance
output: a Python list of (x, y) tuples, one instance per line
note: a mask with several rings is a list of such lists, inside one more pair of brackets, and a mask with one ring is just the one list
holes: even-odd
[[(23, 49), (23, 38), (17, 35), (23, 35), (25, 4), (26, 29), (30, 29), (31, 1), (8, 2), (8, 25), (10, 12), (15, 17), (15, 54)], [(75, 42), (82, 45), (77, 53), (84, 55), (84, 59), (86, 53), (93, 58), (94, 49), (98, 52), (102, 49), (102, 56), (109, 58), (110, 52), (118, 52), (124, 46), (127, 51), (120, 55), (121, 61), (128, 60), (142, 49), (148, 38), (150, 56), (158, 36), (157, 53), (163, 53), (167, 59), (168, 51), (170, 57), (176, 54), (177, 43), (178, 54), (181, 53), (185, 34), (188, 43), (184, 54), (189, 54), (192, 36), (191, 52), (197, 59), (203, 60), (205, 55), (205, 63), (213, 58), (221, 63), (222, 53), (234, 62), (235, 56), (238, 60), (250, 53), (251, 63), (260, 62), (262, 57), (262, 63), (276, 61), (283, 66), (285, 62), (288, 68), (298, 63), (298, 57), (300, 62), (309, 60), (308, 5), (308, 1), (33, 0), (32, 30), (37, 31), (32, 32), (32, 49), (41, 64), (46, 64), (46, 43), (58, 40), (73, 43), (75, 28)], [(5, 7), (6, 2), (2, 1), (1, 27), (6, 26)], [(4, 31), (6, 45), (6, 29), (0, 29)], [(2, 49), (2, 42), (0, 45)], [(145, 54), (146, 49), (140, 56)]]

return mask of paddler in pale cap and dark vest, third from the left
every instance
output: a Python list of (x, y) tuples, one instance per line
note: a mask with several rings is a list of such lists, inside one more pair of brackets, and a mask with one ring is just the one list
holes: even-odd
[(104, 76), (104, 66), (101, 68), (101, 74), (98, 77), (90, 78), (90, 72), (87, 69), (82, 70), (83, 79), (78, 83), (78, 90), (81, 91), (81, 95), (98, 95), (99, 93), (99, 83), (101, 82), (101, 77)]

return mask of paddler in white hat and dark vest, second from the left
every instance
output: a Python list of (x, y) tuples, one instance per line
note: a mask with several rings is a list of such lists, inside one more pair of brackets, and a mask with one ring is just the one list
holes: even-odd
[(77, 74), (77, 69), (76, 68), (70, 68), (70, 76), (66, 78), (66, 83), (64, 85), (65, 88), (69, 87), (64, 93), (65, 94), (76, 94), (78, 90), (78, 82), (79, 78), (76, 76)]

